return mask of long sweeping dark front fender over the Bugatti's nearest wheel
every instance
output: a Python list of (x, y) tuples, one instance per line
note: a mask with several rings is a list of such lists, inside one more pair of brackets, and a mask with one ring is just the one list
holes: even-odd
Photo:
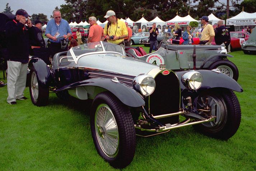
[(112, 94), (114, 94), (122, 103), (124, 103), (127, 106), (139, 107), (145, 104), (143, 97), (137, 91), (121, 82), (113, 82), (110, 79), (97, 78), (83, 80), (61, 87), (56, 91), (67, 90), (79, 86), (102, 87), (103, 89), (106, 89), (110, 91)]

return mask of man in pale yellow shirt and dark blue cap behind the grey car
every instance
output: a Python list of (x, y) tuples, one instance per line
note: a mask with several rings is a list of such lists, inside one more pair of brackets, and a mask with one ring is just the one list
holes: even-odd
[(211, 41), (213, 41), (213, 38), (215, 36), (213, 26), (209, 24), (209, 18), (208, 16), (202, 16), (200, 18), (201, 23), (204, 25), (203, 29), (200, 34), (200, 42), (199, 44), (211, 44)]

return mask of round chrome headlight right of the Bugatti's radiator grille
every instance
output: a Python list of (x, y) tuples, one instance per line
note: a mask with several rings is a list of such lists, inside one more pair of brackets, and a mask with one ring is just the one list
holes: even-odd
[(201, 87), (203, 79), (200, 72), (193, 70), (184, 73), (181, 81), (188, 89), (197, 90)]

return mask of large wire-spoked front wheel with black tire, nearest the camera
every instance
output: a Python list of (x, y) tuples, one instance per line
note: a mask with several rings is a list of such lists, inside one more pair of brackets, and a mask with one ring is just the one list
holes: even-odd
[[(104, 111), (108, 113), (105, 114)], [(134, 122), (132, 120), (131, 113), (127, 108), (127, 106), (121, 103), (121, 101), (117, 99), (116, 96), (114, 96), (110, 92), (102, 92), (98, 94), (96, 98), (93, 100), (93, 104), (90, 112), (91, 112), (90, 126), (92, 131), (92, 137), (93, 137), (94, 145), (97, 149), (98, 154), (101, 157), (103, 157), (104, 160), (109, 162), (112, 167), (124, 168), (127, 165), (129, 165), (134, 157), (135, 147), (136, 147), (136, 137), (135, 137)], [(101, 118), (100, 116), (102, 115), (102, 113), (104, 113), (103, 116), (106, 118), (109, 115), (112, 117), (108, 119), (108, 121), (112, 119), (111, 120), (112, 121), (111, 137), (116, 136), (116, 139), (117, 139), (117, 145), (116, 145), (117, 147), (116, 149), (113, 150), (115, 152), (113, 154), (109, 154), (107, 152), (108, 149), (105, 150), (105, 148), (109, 146), (104, 146), (103, 143), (100, 143), (100, 141), (102, 142), (104, 141), (105, 143), (108, 141), (107, 138), (109, 134), (107, 133), (107, 127), (101, 126), (99, 124), (101, 122), (97, 123), (97, 125), (99, 125), (97, 128), (95, 127), (97, 122), (96, 118), (100, 120)], [(113, 129), (113, 128), (116, 128), (116, 129)], [(104, 130), (106, 130), (106, 132)], [(103, 135), (104, 137), (102, 138), (101, 135)], [(112, 138), (112, 139), (116, 141), (115, 138)], [(118, 145), (118, 142), (119, 142), (119, 145)]]

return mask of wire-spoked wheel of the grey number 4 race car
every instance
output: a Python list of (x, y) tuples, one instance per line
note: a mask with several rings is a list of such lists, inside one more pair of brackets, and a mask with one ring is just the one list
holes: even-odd
[(217, 61), (212, 63), (208, 69), (213, 70), (216, 68), (218, 68), (220, 72), (224, 73), (225, 75), (230, 76), (232, 79), (236, 81), (238, 80), (238, 77), (239, 77), (238, 68), (236, 65), (234, 65), (233, 62), (228, 60)]

